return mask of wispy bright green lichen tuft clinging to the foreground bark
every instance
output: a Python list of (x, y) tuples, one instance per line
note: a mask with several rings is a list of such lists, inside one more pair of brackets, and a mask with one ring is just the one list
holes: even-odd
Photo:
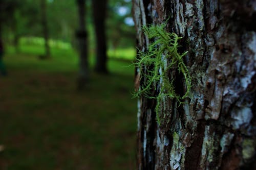
[[(160, 26), (144, 27), (144, 33), (153, 42), (148, 46), (147, 52), (140, 52), (136, 66), (140, 70), (141, 78), (144, 78), (145, 83), (140, 86), (140, 89), (135, 92), (134, 96), (144, 96), (150, 99), (156, 99), (156, 114), (157, 122), (160, 124), (159, 113), (161, 103), (164, 99), (176, 99), (179, 103), (187, 98), (190, 93), (191, 79), (188, 69), (183, 62), (183, 57), (187, 54), (178, 53), (179, 37), (175, 33), (165, 31), (166, 24)], [(148, 68), (151, 69), (148, 69)], [(175, 92), (174, 80), (169, 78), (168, 74), (172, 70), (178, 69), (184, 76), (186, 93), (183, 96)], [(160, 86), (157, 86), (157, 83)], [(157, 90), (157, 96), (153, 96), (152, 90)]]

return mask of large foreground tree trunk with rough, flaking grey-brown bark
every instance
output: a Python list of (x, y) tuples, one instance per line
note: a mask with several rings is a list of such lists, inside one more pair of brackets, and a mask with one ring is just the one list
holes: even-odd
[[(142, 26), (167, 20), (166, 30), (183, 37), (193, 85), (182, 104), (163, 99), (160, 125), (157, 101), (138, 100), (138, 169), (256, 169), (255, 9), (253, 0), (133, 0), (139, 50), (154, 41)], [(184, 94), (179, 71), (168, 77)], [(138, 70), (136, 80), (146, 83)]]

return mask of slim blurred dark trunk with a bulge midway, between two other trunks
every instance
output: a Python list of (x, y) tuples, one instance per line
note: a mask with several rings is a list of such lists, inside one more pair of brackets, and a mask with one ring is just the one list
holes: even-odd
[(88, 44), (86, 32), (86, 10), (85, 0), (77, 0), (78, 15), (79, 15), (79, 30), (77, 31), (77, 38), (80, 48), (80, 70), (78, 77), (78, 89), (82, 89), (88, 81)]

